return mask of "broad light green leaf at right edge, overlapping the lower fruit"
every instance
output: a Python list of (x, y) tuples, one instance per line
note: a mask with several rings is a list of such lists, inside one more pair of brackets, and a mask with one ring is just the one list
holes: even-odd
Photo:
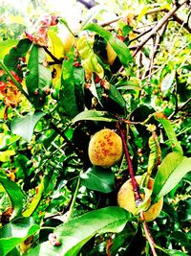
[(191, 171), (191, 158), (182, 156), (178, 152), (170, 152), (163, 159), (155, 177), (152, 202), (168, 194)]

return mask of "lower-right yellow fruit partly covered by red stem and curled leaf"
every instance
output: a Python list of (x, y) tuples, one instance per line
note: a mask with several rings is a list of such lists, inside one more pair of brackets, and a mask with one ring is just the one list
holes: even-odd
[[(141, 182), (141, 175), (136, 176), (136, 180), (138, 181), (138, 185), (139, 185)], [(148, 189), (152, 190), (153, 184), (154, 184), (154, 179), (150, 178)], [(145, 221), (154, 221), (159, 216), (159, 213), (162, 209), (163, 198), (160, 198), (159, 201), (153, 204), (152, 206), (150, 206), (150, 201), (151, 199), (149, 199), (148, 201), (148, 205), (147, 205), (148, 210), (144, 212)], [(127, 211), (135, 215), (137, 211), (137, 207), (136, 207), (131, 178), (128, 179), (119, 189), (117, 194), (117, 202), (120, 207), (126, 209)]]

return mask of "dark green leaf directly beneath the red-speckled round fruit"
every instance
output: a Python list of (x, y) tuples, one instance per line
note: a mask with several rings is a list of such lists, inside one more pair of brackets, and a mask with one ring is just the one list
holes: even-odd
[(115, 175), (111, 170), (93, 167), (80, 176), (82, 184), (88, 189), (102, 193), (110, 193), (114, 190)]

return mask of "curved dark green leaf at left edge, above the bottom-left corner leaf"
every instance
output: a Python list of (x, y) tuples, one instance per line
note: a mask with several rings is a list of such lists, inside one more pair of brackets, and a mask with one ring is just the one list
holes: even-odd
[(13, 208), (11, 219), (13, 219), (19, 216), (23, 209), (23, 193), (20, 187), (6, 175), (0, 175), (0, 183), (11, 199), (11, 206)]

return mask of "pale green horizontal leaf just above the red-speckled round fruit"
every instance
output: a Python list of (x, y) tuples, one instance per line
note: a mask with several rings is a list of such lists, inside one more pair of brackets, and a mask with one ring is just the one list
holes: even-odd
[(81, 120), (116, 122), (117, 119), (110, 117), (107, 111), (85, 110), (74, 117), (73, 123)]

